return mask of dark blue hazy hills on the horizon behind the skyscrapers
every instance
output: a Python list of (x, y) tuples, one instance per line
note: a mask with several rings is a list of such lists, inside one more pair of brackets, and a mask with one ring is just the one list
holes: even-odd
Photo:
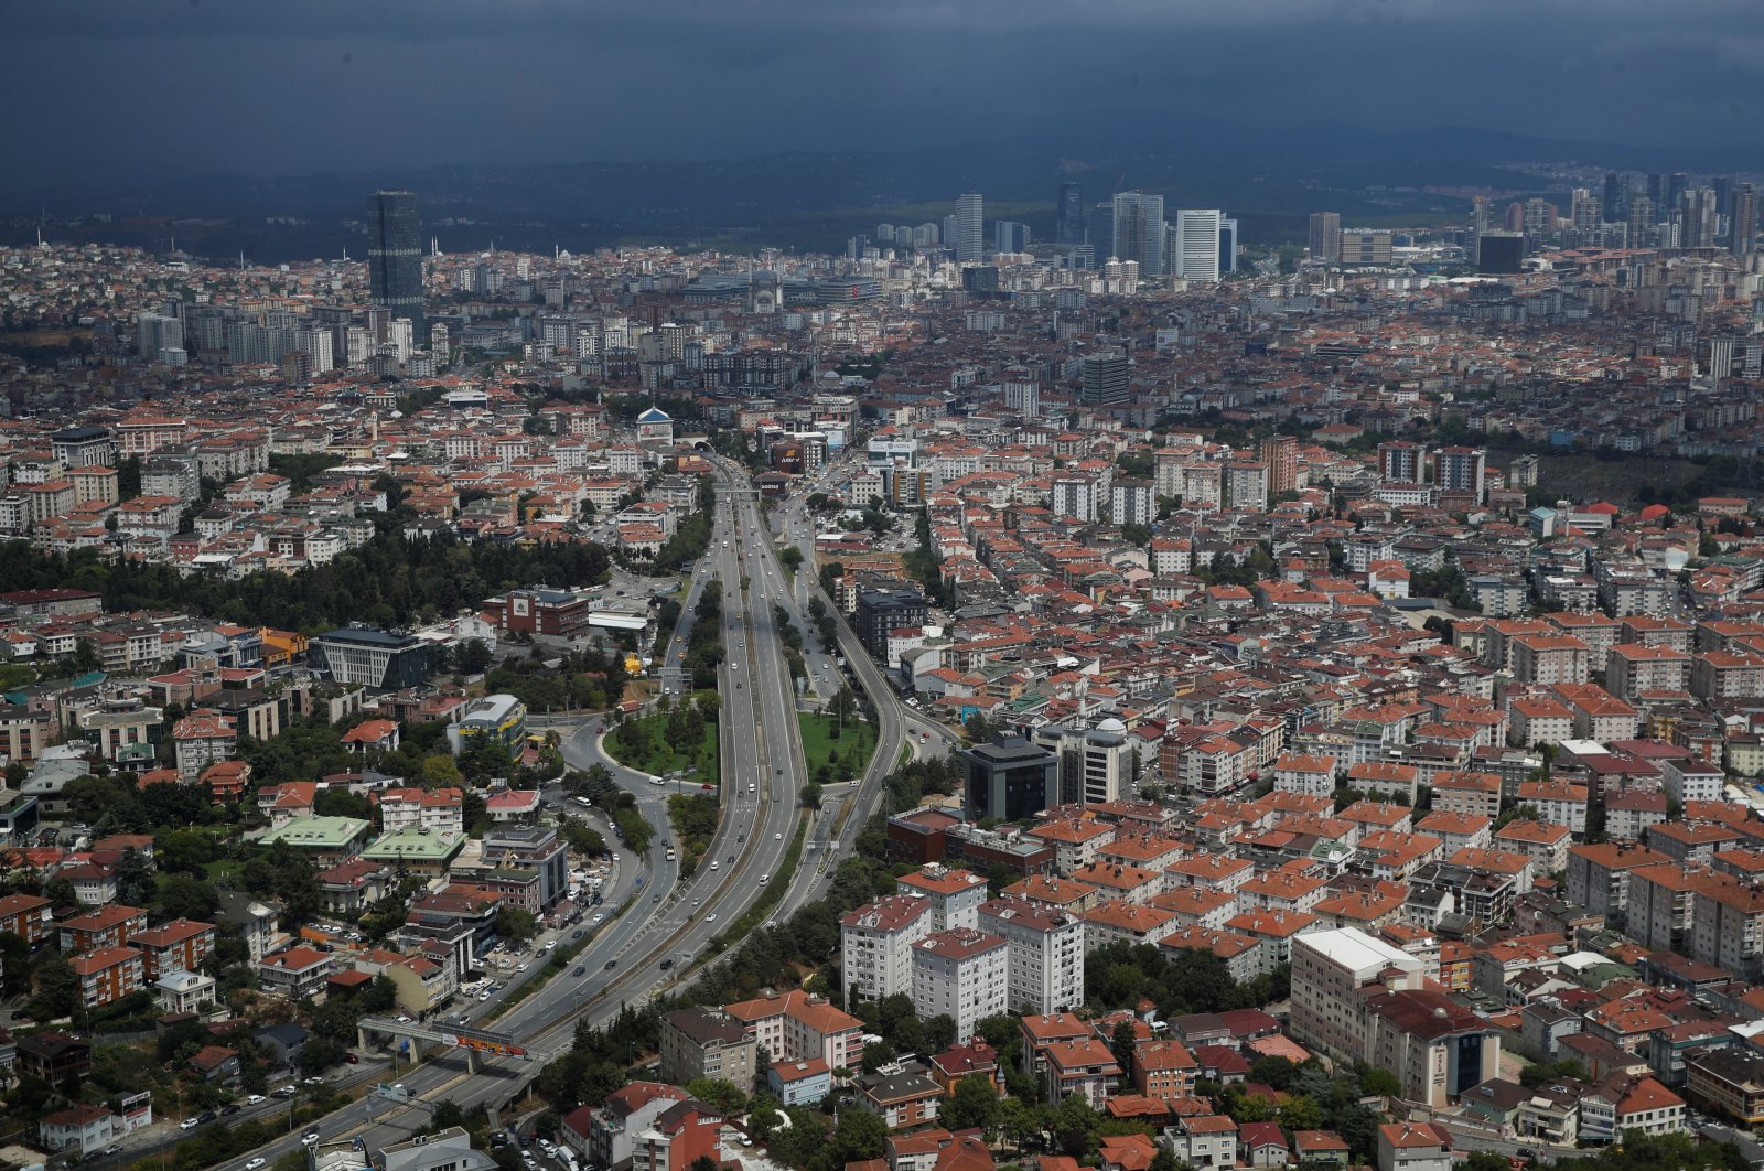
[[(351, 243), (346, 220), (362, 217), (374, 187), (422, 194), (423, 220), (443, 249), (570, 249), (621, 240), (695, 238), (723, 247), (776, 243), (838, 247), (878, 219), (935, 219), (963, 190), (1000, 212), (1051, 229), (1053, 196), (1065, 178), (1085, 201), (1113, 190), (1162, 192), (1173, 206), (1238, 213), (1245, 242), (1291, 238), (1312, 210), (1348, 219), (1457, 219), (1466, 190), (1533, 194), (1549, 183), (1526, 164), (1579, 162), (1614, 169), (1697, 173), (1755, 166), (1753, 152), (1628, 148), (1542, 139), (1475, 127), (1424, 132), (1369, 131), (1337, 122), (1245, 127), (1145, 111), (1090, 118), (1095, 131), (1043, 134), (912, 152), (803, 152), (704, 160), (549, 162), (524, 168), (436, 166), (335, 171), (282, 178), (192, 175), (164, 183), (125, 176), (81, 187), (0, 196), (14, 217), (104, 212), (118, 219), (215, 217), (226, 224), (178, 227), (178, 242), (254, 259), (335, 256)], [(296, 217), (277, 227), (265, 217)], [(116, 224), (108, 235), (161, 231)], [(9, 235), (18, 235), (14, 224)], [(169, 233), (168, 233), (169, 235)]]

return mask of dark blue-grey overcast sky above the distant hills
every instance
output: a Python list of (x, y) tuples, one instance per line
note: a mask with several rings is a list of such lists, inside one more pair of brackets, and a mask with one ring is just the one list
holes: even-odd
[(1122, 108), (1764, 141), (1764, 0), (0, 0), (0, 30), (14, 189), (912, 148)]

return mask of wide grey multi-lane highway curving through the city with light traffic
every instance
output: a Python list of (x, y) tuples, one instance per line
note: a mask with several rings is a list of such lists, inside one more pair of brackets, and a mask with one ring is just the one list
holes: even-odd
[[(721, 478), (725, 487), (744, 485), (727, 471)], [(427, 1125), (429, 1109), (441, 1100), (467, 1111), (480, 1104), (501, 1108), (538, 1072), (538, 1062), (568, 1048), (579, 1019), (603, 1023), (626, 1003), (642, 1003), (656, 989), (684, 979), (706, 944), (737, 919), (780, 871), (801, 817), (797, 790), (806, 771), (794, 690), (773, 612), (774, 603), (789, 605), (790, 598), (751, 497), (721, 494), (706, 559), (709, 573), (723, 582), (727, 660), (720, 675), (723, 707), (718, 720), (725, 811), (704, 864), (681, 882), (677, 864), (667, 861), (665, 843), (674, 834), (665, 797), (672, 787), (656, 787), (646, 774), (614, 767), (616, 779), (637, 794), (640, 811), (660, 832), (647, 857), (621, 857), (621, 876), (607, 892), (605, 906), (628, 903), (626, 912), (589, 942), (564, 975), (487, 1023), (520, 1040), (529, 1058), (480, 1058), (478, 1070), (469, 1074), (462, 1053), (443, 1053), (397, 1076), (411, 1097), (409, 1104), (370, 1095), (319, 1120), (312, 1129), (323, 1141), (360, 1136), (370, 1148), (395, 1143)], [(684, 603), (688, 608), (697, 603), (706, 573), (700, 566)], [(593, 721), (566, 737), (566, 760), (586, 764), (598, 758), (593, 737), (600, 732), (598, 721)], [(801, 898), (792, 889), (787, 906), (797, 901)], [(247, 1157), (275, 1159), (298, 1148), (300, 1137), (288, 1136), (247, 1152), (235, 1166), (242, 1167)]]

